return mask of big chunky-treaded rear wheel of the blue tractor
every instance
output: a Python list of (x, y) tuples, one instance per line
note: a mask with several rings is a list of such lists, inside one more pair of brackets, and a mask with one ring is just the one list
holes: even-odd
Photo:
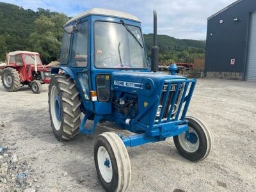
[(81, 124), (81, 102), (73, 79), (65, 74), (52, 76), (48, 97), (54, 135), (58, 140), (72, 140)]

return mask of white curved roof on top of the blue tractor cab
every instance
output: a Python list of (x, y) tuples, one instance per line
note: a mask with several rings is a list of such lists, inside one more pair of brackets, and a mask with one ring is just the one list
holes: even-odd
[(83, 12), (76, 17), (73, 17), (72, 19), (68, 20), (64, 26), (67, 26), (70, 24), (70, 22), (73, 22), (74, 20), (81, 19), (83, 17), (86, 17), (88, 15), (104, 15), (104, 16), (110, 16), (110, 17), (120, 17), (123, 19), (129, 19), (129, 20), (135, 20), (137, 22), (141, 22), (138, 17), (135, 17), (134, 15), (131, 15), (129, 13), (124, 12), (118, 12), (115, 10), (107, 10), (103, 8), (92, 8), (91, 10), (87, 10), (86, 12)]

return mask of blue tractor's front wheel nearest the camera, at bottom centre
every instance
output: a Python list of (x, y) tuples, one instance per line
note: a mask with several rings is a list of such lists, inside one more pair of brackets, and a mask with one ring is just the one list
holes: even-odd
[(106, 191), (125, 191), (131, 182), (131, 163), (123, 141), (114, 132), (100, 134), (94, 145), (94, 162)]

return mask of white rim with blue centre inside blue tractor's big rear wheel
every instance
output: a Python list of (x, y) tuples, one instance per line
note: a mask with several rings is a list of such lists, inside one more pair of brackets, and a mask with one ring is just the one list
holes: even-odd
[[(58, 100), (57, 105), (56, 105), (56, 100)], [(56, 129), (56, 131), (59, 131), (61, 126), (61, 106), (60, 106), (60, 95), (55, 85), (52, 86), (52, 90), (51, 90), (51, 116), (52, 116), (52, 123), (54, 125), (54, 128)]]

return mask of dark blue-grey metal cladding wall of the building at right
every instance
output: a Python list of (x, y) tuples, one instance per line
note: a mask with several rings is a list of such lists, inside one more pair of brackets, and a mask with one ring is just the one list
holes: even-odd
[[(205, 71), (244, 73), (248, 18), (255, 10), (255, 0), (237, 1), (208, 20)], [(230, 65), (231, 59), (236, 59), (235, 65)]]

